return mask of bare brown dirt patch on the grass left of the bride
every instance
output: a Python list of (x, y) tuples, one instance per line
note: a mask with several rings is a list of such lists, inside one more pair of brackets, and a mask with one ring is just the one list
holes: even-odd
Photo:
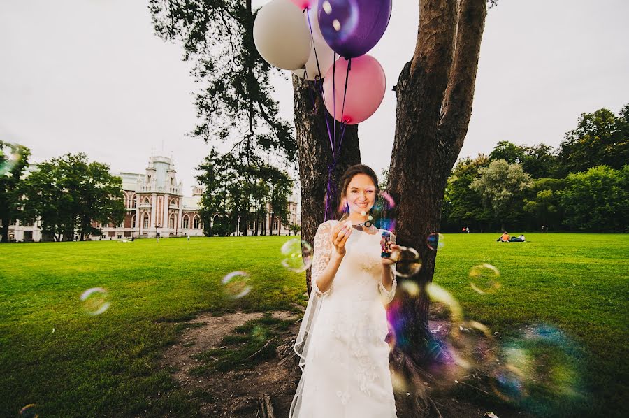
[[(280, 335), (272, 341), (278, 352), (286, 352), (291, 347), (284, 343), (291, 341), (291, 337), (296, 335), (301, 315), (287, 311), (269, 313), (271, 318), (291, 324), (284, 327)], [(180, 340), (166, 349), (161, 367), (171, 373), (178, 382), (179, 390), (185, 391), (189, 398), (201, 403), (202, 416), (266, 417), (269, 408), (273, 408), (275, 417), (288, 417), (300, 377), (296, 363), (281, 363), (279, 355), (274, 355), (270, 359), (263, 359), (253, 368), (199, 372), (203, 364), (208, 361), (212, 363), (212, 357), (202, 357), (204, 353), (215, 352), (217, 349), (237, 350), (238, 343), (222, 345), (224, 337), (234, 334), (234, 329), (239, 326), (263, 317), (265, 314), (261, 312), (236, 312), (220, 317), (204, 314), (192, 321), (178, 324), (182, 329)], [(254, 353), (252, 359), (257, 355)], [(284, 358), (287, 356), (289, 354), (285, 353)]]

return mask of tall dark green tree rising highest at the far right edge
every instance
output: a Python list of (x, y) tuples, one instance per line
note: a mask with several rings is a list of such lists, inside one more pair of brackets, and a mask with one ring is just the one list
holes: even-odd
[(629, 105), (617, 116), (605, 108), (581, 113), (577, 127), (565, 134), (559, 158), (563, 175), (598, 165), (622, 168), (629, 161)]

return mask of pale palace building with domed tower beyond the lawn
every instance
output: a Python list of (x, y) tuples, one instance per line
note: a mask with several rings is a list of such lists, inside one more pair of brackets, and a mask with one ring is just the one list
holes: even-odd
[[(150, 157), (144, 174), (120, 173), (126, 215), (120, 225), (94, 224), (101, 229), (101, 236), (90, 236), (91, 240), (124, 240), (134, 238), (203, 236), (203, 222), (199, 215), (201, 196), (204, 187), (193, 188), (192, 196), (184, 196), (182, 182), (177, 182), (173, 159), (168, 157)], [(291, 224), (301, 224), (296, 194), (289, 199)], [(268, 208), (270, 212), (270, 207)], [(289, 226), (283, 225), (275, 217), (272, 228), (270, 213), (263, 225), (259, 226), (258, 235), (263, 227), (270, 235), (289, 235)], [(240, 226), (240, 225), (238, 225)], [(254, 224), (247, 225), (247, 235), (254, 235)], [(231, 235), (235, 235), (232, 233)], [(19, 221), (9, 226), (10, 241), (50, 240), (44, 237), (38, 222), (33, 225), (21, 225)]]

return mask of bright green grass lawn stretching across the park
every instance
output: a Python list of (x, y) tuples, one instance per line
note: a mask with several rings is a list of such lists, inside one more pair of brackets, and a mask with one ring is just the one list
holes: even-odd
[[(41, 417), (191, 416), (194, 403), (157, 371), (173, 322), (199, 312), (291, 310), (304, 275), (280, 264), (289, 237), (136, 240), (133, 243), (0, 245), (0, 415), (35, 403)], [(435, 282), (465, 314), (505, 336), (552, 324), (580, 347), (591, 416), (619, 415), (627, 395), (629, 236), (527, 234), (500, 244), (489, 234), (445, 236)], [(470, 289), (472, 266), (489, 263), (503, 287)], [(233, 301), (221, 279), (250, 274)], [(86, 315), (80, 295), (108, 290), (110, 308)], [(54, 331), (53, 331), (54, 330)], [(149, 405), (147, 396), (168, 392)]]

